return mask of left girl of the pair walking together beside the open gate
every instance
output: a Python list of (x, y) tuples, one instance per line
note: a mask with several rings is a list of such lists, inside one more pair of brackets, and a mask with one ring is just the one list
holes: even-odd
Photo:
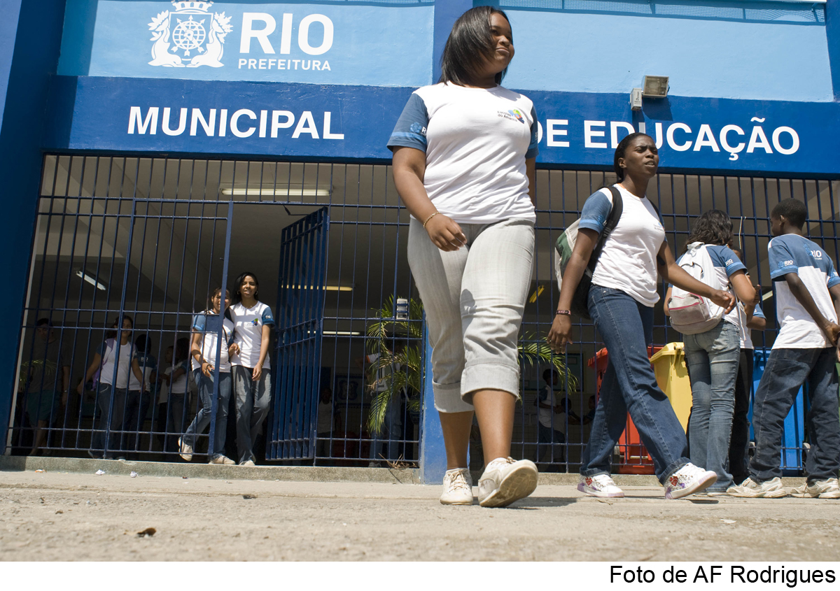
[(218, 346), (218, 317), (222, 306), (222, 288), (218, 287), (207, 297), (207, 309), (192, 319), (192, 371), (198, 384), (201, 409), (184, 437), (178, 441), (181, 458), (192, 460), (192, 448), (196, 446), (198, 433), (204, 431), (213, 418), (213, 381), (215, 380), (216, 355), (218, 353), (218, 401), (216, 405), (216, 427), (213, 437), (213, 454), (209, 463), (230, 464), (236, 462), (224, 455), (224, 443), (228, 432), (228, 403), (230, 402), (231, 379), (228, 348), (234, 343), (234, 322), (230, 319), (230, 292), (225, 290), (222, 318), (223, 341)]

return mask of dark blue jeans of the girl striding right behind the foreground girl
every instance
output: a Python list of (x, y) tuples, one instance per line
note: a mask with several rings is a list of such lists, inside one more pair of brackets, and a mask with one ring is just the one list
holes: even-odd
[(659, 390), (648, 359), (648, 343), (654, 340), (654, 309), (639, 304), (622, 290), (599, 285), (589, 291), (588, 305), (610, 357), (580, 473), (610, 473), (612, 449), (624, 431), (629, 411), (654, 458), (656, 477), (664, 483), (689, 460), (685, 457), (685, 432), (668, 398)]

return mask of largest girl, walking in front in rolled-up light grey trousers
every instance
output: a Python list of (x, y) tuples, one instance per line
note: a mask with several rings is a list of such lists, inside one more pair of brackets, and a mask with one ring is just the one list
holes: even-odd
[(534, 463), (509, 457), (538, 152), (533, 103), (500, 86), (513, 55), (505, 13), (483, 6), (462, 14), (440, 81), (412, 94), (388, 140), (396, 189), (412, 214), (408, 264), (433, 346), (449, 468), (444, 505), (473, 502), (467, 448), (474, 409), (485, 461), (479, 504), (510, 505), (537, 486)]

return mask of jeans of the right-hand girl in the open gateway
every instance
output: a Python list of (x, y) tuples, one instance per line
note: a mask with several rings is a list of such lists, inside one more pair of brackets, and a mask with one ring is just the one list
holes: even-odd
[(253, 369), (234, 365), (231, 373), (236, 391), (236, 451), (239, 463), (256, 461), (254, 440), (260, 434), (271, 399), (271, 370), (263, 368), (260, 379), (252, 379)]

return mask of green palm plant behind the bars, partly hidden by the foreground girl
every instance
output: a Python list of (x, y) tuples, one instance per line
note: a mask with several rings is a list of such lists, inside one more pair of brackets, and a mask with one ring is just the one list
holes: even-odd
[[(396, 320), (394, 297), (391, 296), (378, 310), (374, 310), (375, 322), (367, 327), (368, 353), (378, 354), (368, 371), (367, 386), (373, 395), (368, 414), (367, 428), (370, 433), (379, 433), (385, 424), (386, 411), (391, 400), (399, 400), (401, 392), (407, 394), (408, 411), (420, 410), (423, 398), (423, 304), (408, 301), (407, 320)], [(395, 342), (407, 343), (395, 346)], [(560, 379), (568, 380), (570, 388), (577, 387), (575, 374), (566, 367), (564, 359), (555, 355), (545, 339), (533, 333), (520, 337), (517, 345), (519, 362), (552, 365)], [(398, 368), (398, 369), (397, 369)]]

